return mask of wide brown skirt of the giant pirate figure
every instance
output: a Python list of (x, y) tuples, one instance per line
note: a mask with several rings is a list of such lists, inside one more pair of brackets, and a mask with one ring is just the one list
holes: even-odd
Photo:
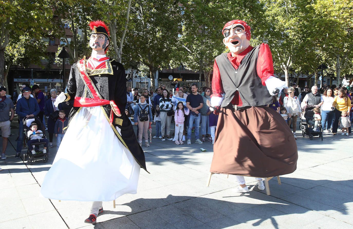
[(297, 169), (297, 143), (287, 123), (273, 108), (221, 110), (210, 172), (271, 177)]

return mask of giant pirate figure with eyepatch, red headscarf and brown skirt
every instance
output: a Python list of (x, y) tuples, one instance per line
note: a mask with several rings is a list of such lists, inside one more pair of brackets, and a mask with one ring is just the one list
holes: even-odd
[[(215, 59), (211, 107), (219, 111), (210, 172), (237, 175), (248, 192), (244, 176), (261, 178), (289, 174), (297, 168), (297, 144), (281, 115), (267, 107), (285, 83), (274, 77), (267, 44), (250, 46), (250, 26), (242, 20), (228, 22), (222, 30), (229, 53)], [(222, 98), (224, 95), (224, 99)]]

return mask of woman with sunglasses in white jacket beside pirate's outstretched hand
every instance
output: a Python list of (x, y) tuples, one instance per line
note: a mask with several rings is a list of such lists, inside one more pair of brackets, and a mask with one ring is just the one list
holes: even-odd
[(294, 95), (294, 88), (290, 87), (288, 89), (288, 95), (283, 99), (283, 106), (286, 107), (288, 112), (288, 126), (293, 126), (293, 135), (295, 140), (297, 140), (297, 136), (295, 136), (295, 130), (297, 129), (297, 118), (298, 114), (300, 114), (300, 103), (299, 98)]

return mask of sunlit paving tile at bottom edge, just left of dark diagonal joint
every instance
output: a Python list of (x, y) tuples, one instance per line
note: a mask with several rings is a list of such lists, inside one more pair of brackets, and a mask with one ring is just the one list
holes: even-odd
[(47, 229), (50, 226), (54, 226), (55, 229), (67, 229), (65, 222), (55, 210), (31, 215), (28, 218), (32, 227), (36, 229)]

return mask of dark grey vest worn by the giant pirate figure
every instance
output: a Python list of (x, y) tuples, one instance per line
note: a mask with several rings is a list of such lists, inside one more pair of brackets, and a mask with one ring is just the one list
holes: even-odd
[(243, 102), (243, 105), (237, 107), (238, 110), (247, 106), (262, 106), (272, 102), (272, 95), (268, 92), (267, 87), (262, 85), (256, 71), (259, 49), (258, 45), (247, 53), (241, 60), (238, 69), (235, 69), (228, 60), (227, 53), (216, 57), (225, 92), (225, 99), (221, 107), (227, 107), (231, 104), (236, 91)]

